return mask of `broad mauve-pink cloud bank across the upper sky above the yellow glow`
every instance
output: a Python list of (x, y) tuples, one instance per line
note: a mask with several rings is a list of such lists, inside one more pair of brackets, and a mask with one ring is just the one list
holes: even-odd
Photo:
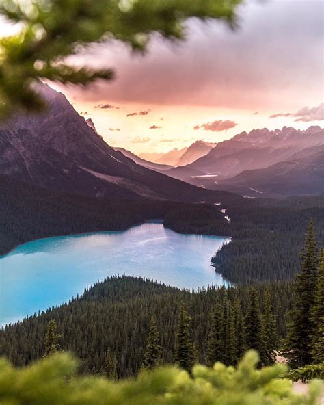
[(87, 99), (251, 111), (295, 111), (301, 99), (306, 105), (319, 103), (323, 1), (246, 0), (239, 18), (235, 31), (192, 19), (186, 42), (170, 44), (152, 36), (144, 57), (117, 42), (87, 48), (82, 62), (102, 67), (109, 60), (118, 74), (89, 90)]

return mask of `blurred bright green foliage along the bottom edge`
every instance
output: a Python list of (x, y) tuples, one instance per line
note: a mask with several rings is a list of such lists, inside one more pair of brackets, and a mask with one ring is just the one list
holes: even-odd
[(77, 361), (57, 353), (23, 369), (0, 361), (1, 405), (315, 405), (321, 383), (311, 382), (308, 395), (292, 393), (292, 383), (278, 377), (282, 364), (257, 369), (250, 351), (237, 368), (215, 363), (193, 367), (192, 376), (176, 367), (144, 371), (135, 380), (113, 382), (76, 376)]

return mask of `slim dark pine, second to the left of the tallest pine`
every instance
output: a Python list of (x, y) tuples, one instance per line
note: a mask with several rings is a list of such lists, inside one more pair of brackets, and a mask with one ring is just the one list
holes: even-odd
[(245, 343), (247, 349), (257, 350), (263, 363), (262, 322), (258, 304), (258, 294), (255, 287), (249, 291), (247, 313), (244, 319)]

